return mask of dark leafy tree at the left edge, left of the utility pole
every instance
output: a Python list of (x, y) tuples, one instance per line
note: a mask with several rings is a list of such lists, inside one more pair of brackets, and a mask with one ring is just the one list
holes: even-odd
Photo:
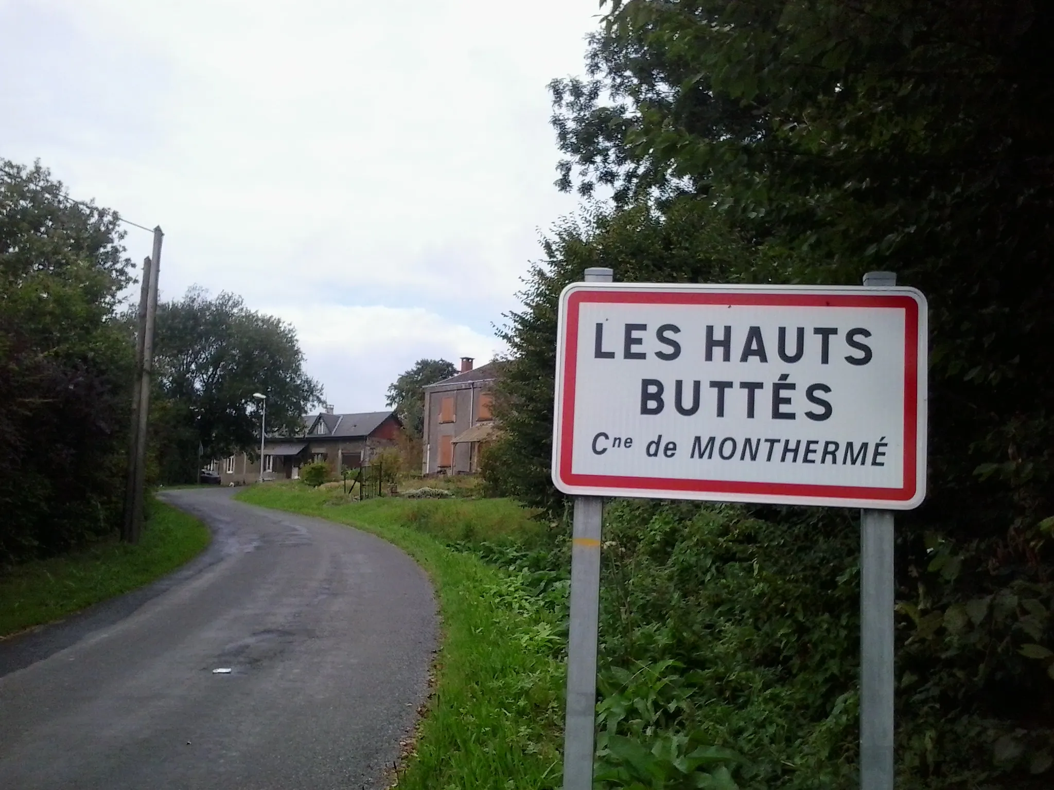
[(0, 565), (119, 522), (132, 347), (117, 214), (0, 160)]

